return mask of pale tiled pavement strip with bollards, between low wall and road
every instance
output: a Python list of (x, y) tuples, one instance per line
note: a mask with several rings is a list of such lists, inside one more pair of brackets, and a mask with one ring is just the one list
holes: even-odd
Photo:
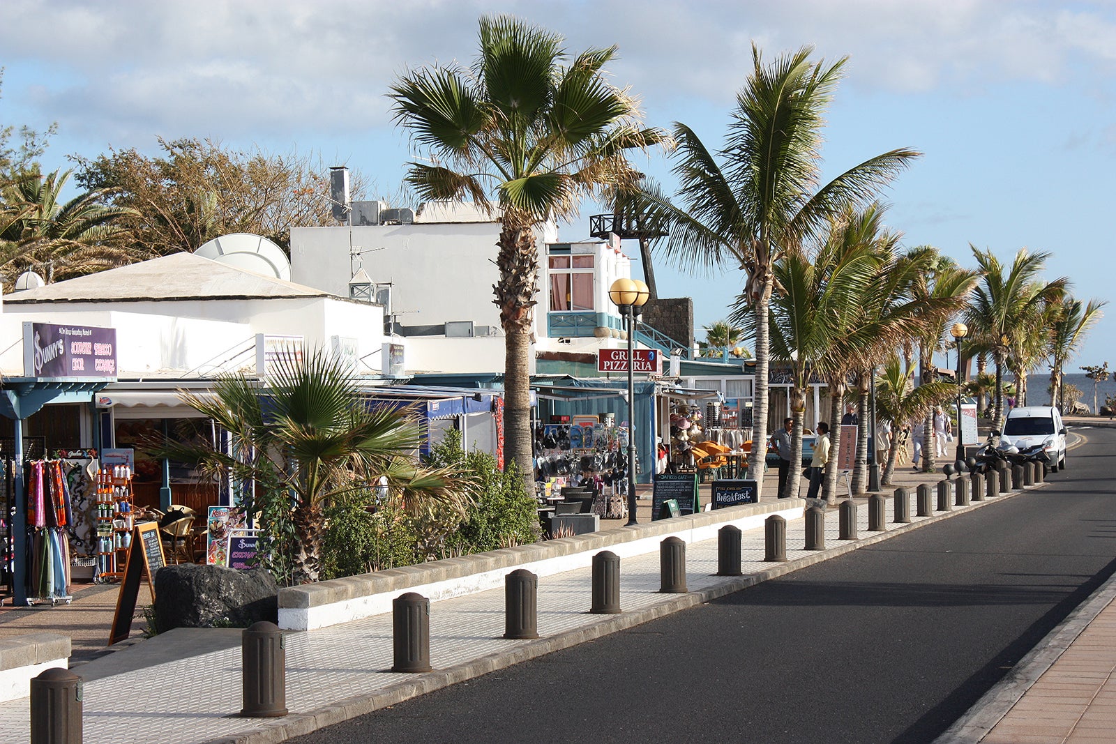
[[(1041, 487), (1041, 486), (1037, 486)], [(867, 532), (866, 500), (857, 500), (859, 540), (838, 540), (838, 513), (826, 515), (822, 551), (802, 550), (805, 521), (787, 522), (787, 562), (763, 562), (763, 529), (742, 535), (743, 577), (712, 576), (716, 540), (686, 548), (689, 593), (658, 593), (657, 551), (620, 563), (620, 615), (590, 615), (591, 570), (545, 577), (538, 588), (538, 625), (543, 638), (504, 640), (503, 591), (446, 599), (431, 606), (431, 661), (426, 674), (393, 674), (391, 613), (287, 637), (287, 706), (285, 718), (234, 717), (240, 709), (240, 649), (147, 667), (95, 679), (84, 688), (86, 744), (135, 742), (279, 742), (331, 723), (362, 715), (449, 684), (566, 648), (590, 638), (645, 622), (709, 601), (769, 578), (878, 542), (931, 521), (945, 519), (992, 501), (954, 506), (933, 516), (914, 514), (911, 524), (895, 524), (892, 497), (886, 499), (885, 532)], [(936, 492), (934, 501), (936, 503)], [(951, 500), (952, 501), (952, 500)], [(27, 698), (0, 703), (0, 729), (12, 744), (29, 741)]]

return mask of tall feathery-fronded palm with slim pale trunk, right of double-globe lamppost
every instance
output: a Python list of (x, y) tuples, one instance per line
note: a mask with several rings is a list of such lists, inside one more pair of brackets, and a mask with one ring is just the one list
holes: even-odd
[[(752, 73), (737, 94), (723, 147), (714, 153), (693, 129), (675, 124), (680, 206), (646, 196), (670, 223), (668, 257), (686, 267), (745, 273), (741, 294), (756, 318), (757, 442), (768, 431), (772, 268), (841, 210), (870, 201), (918, 155), (893, 149), (818, 187), (822, 114), (846, 60), (811, 62), (811, 51), (805, 47), (764, 65), (753, 45)], [(752, 447), (749, 465), (761, 484), (763, 460), (763, 447)]]

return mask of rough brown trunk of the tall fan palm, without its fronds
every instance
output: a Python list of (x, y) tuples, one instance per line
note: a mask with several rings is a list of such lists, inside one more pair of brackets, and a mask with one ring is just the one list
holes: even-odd
[(531, 462), (531, 328), (538, 292), (538, 248), (530, 226), (517, 226), (504, 215), (493, 288), (504, 334), (504, 464), (516, 463), (527, 493), (535, 493)]

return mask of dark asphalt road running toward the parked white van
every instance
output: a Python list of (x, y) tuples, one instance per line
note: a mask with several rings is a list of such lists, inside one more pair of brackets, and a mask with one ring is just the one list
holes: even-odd
[(1116, 431), (1049, 484), (295, 742), (931, 742), (1116, 570)]

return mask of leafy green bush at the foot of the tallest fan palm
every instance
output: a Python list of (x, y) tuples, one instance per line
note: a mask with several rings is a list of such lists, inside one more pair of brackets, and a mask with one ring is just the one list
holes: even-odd
[(446, 538), (446, 547), (459, 554), (481, 553), (539, 539), (539, 516), (533, 496), (527, 493), (514, 465), (501, 471), (487, 452), (465, 453), (461, 432), (446, 432), (431, 447), (426, 463), (433, 467), (461, 467), (475, 483), (475, 501), (461, 526)]

